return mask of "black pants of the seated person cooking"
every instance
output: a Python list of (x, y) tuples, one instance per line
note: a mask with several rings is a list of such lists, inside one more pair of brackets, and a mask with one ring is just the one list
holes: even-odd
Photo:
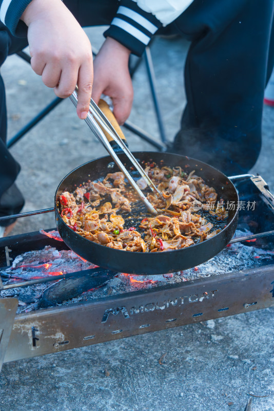
[[(274, 63), (273, 1), (194, 0), (167, 28), (191, 41), (185, 62), (187, 105), (171, 148), (175, 153), (203, 160), (227, 175), (246, 173), (255, 164), (261, 148), (264, 88)], [(82, 26), (110, 24), (118, 8), (116, 0), (64, 3)], [(0, 65), (27, 44), (1, 28)], [(0, 101), (1, 216), (18, 212), (24, 200), (10, 195), (19, 164), (6, 148), (2, 78)]]

